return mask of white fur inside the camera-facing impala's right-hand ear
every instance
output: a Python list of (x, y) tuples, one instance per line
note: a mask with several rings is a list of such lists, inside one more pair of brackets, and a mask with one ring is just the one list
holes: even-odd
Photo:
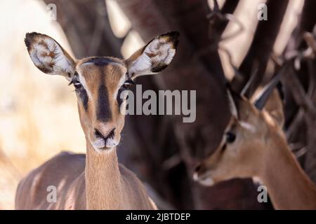
[(146, 46), (143, 54), (133, 62), (129, 73), (134, 74), (135, 77), (154, 74), (156, 72), (151, 71), (152, 66), (159, 63), (170, 64), (175, 54), (176, 49), (173, 49), (173, 43), (166, 42), (164, 38), (155, 38)]

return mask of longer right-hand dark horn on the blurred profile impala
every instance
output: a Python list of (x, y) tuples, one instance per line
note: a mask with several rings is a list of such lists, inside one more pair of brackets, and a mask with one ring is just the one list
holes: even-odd
[(263, 87), (263, 90), (261, 90), (260, 94), (258, 94), (258, 97), (254, 103), (254, 106), (258, 110), (262, 110), (263, 106), (265, 106), (265, 103), (267, 102), (268, 98), (270, 97), (270, 94), (272, 93), (273, 89), (277, 86), (277, 83), (279, 83), (279, 78), (281, 77), (284, 69), (281, 69), (277, 75), (270, 80), (270, 82)]

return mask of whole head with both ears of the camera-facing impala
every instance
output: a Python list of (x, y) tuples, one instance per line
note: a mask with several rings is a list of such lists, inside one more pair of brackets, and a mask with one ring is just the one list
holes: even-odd
[(35, 66), (51, 75), (64, 76), (74, 85), (81, 127), (87, 141), (96, 151), (105, 151), (119, 144), (124, 127), (128, 89), (137, 76), (159, 73), (176, 53), (178, 32), (152, 39), (129, 59), (86, 57), (72, 59), (51, 37), (26, 34), (25, 44)]

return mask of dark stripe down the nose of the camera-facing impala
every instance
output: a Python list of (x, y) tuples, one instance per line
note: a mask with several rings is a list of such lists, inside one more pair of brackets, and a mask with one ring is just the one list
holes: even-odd
[(107, 89), (104, 84), (100, 85), (98, 91), (98, 109), (97, 109), (97, 119), (102, 121), (107, 121), (112, 118), (112, 113), (109, 104), (109, 95), (107, 94)]

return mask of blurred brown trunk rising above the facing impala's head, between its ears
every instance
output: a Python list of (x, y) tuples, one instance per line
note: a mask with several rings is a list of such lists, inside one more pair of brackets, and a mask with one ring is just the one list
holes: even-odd
[(104, 0), (44, 0), (57, 6), (57, 22), (65, 32), (74, 56), (121, 57), (123, 38), (112, 33)]

